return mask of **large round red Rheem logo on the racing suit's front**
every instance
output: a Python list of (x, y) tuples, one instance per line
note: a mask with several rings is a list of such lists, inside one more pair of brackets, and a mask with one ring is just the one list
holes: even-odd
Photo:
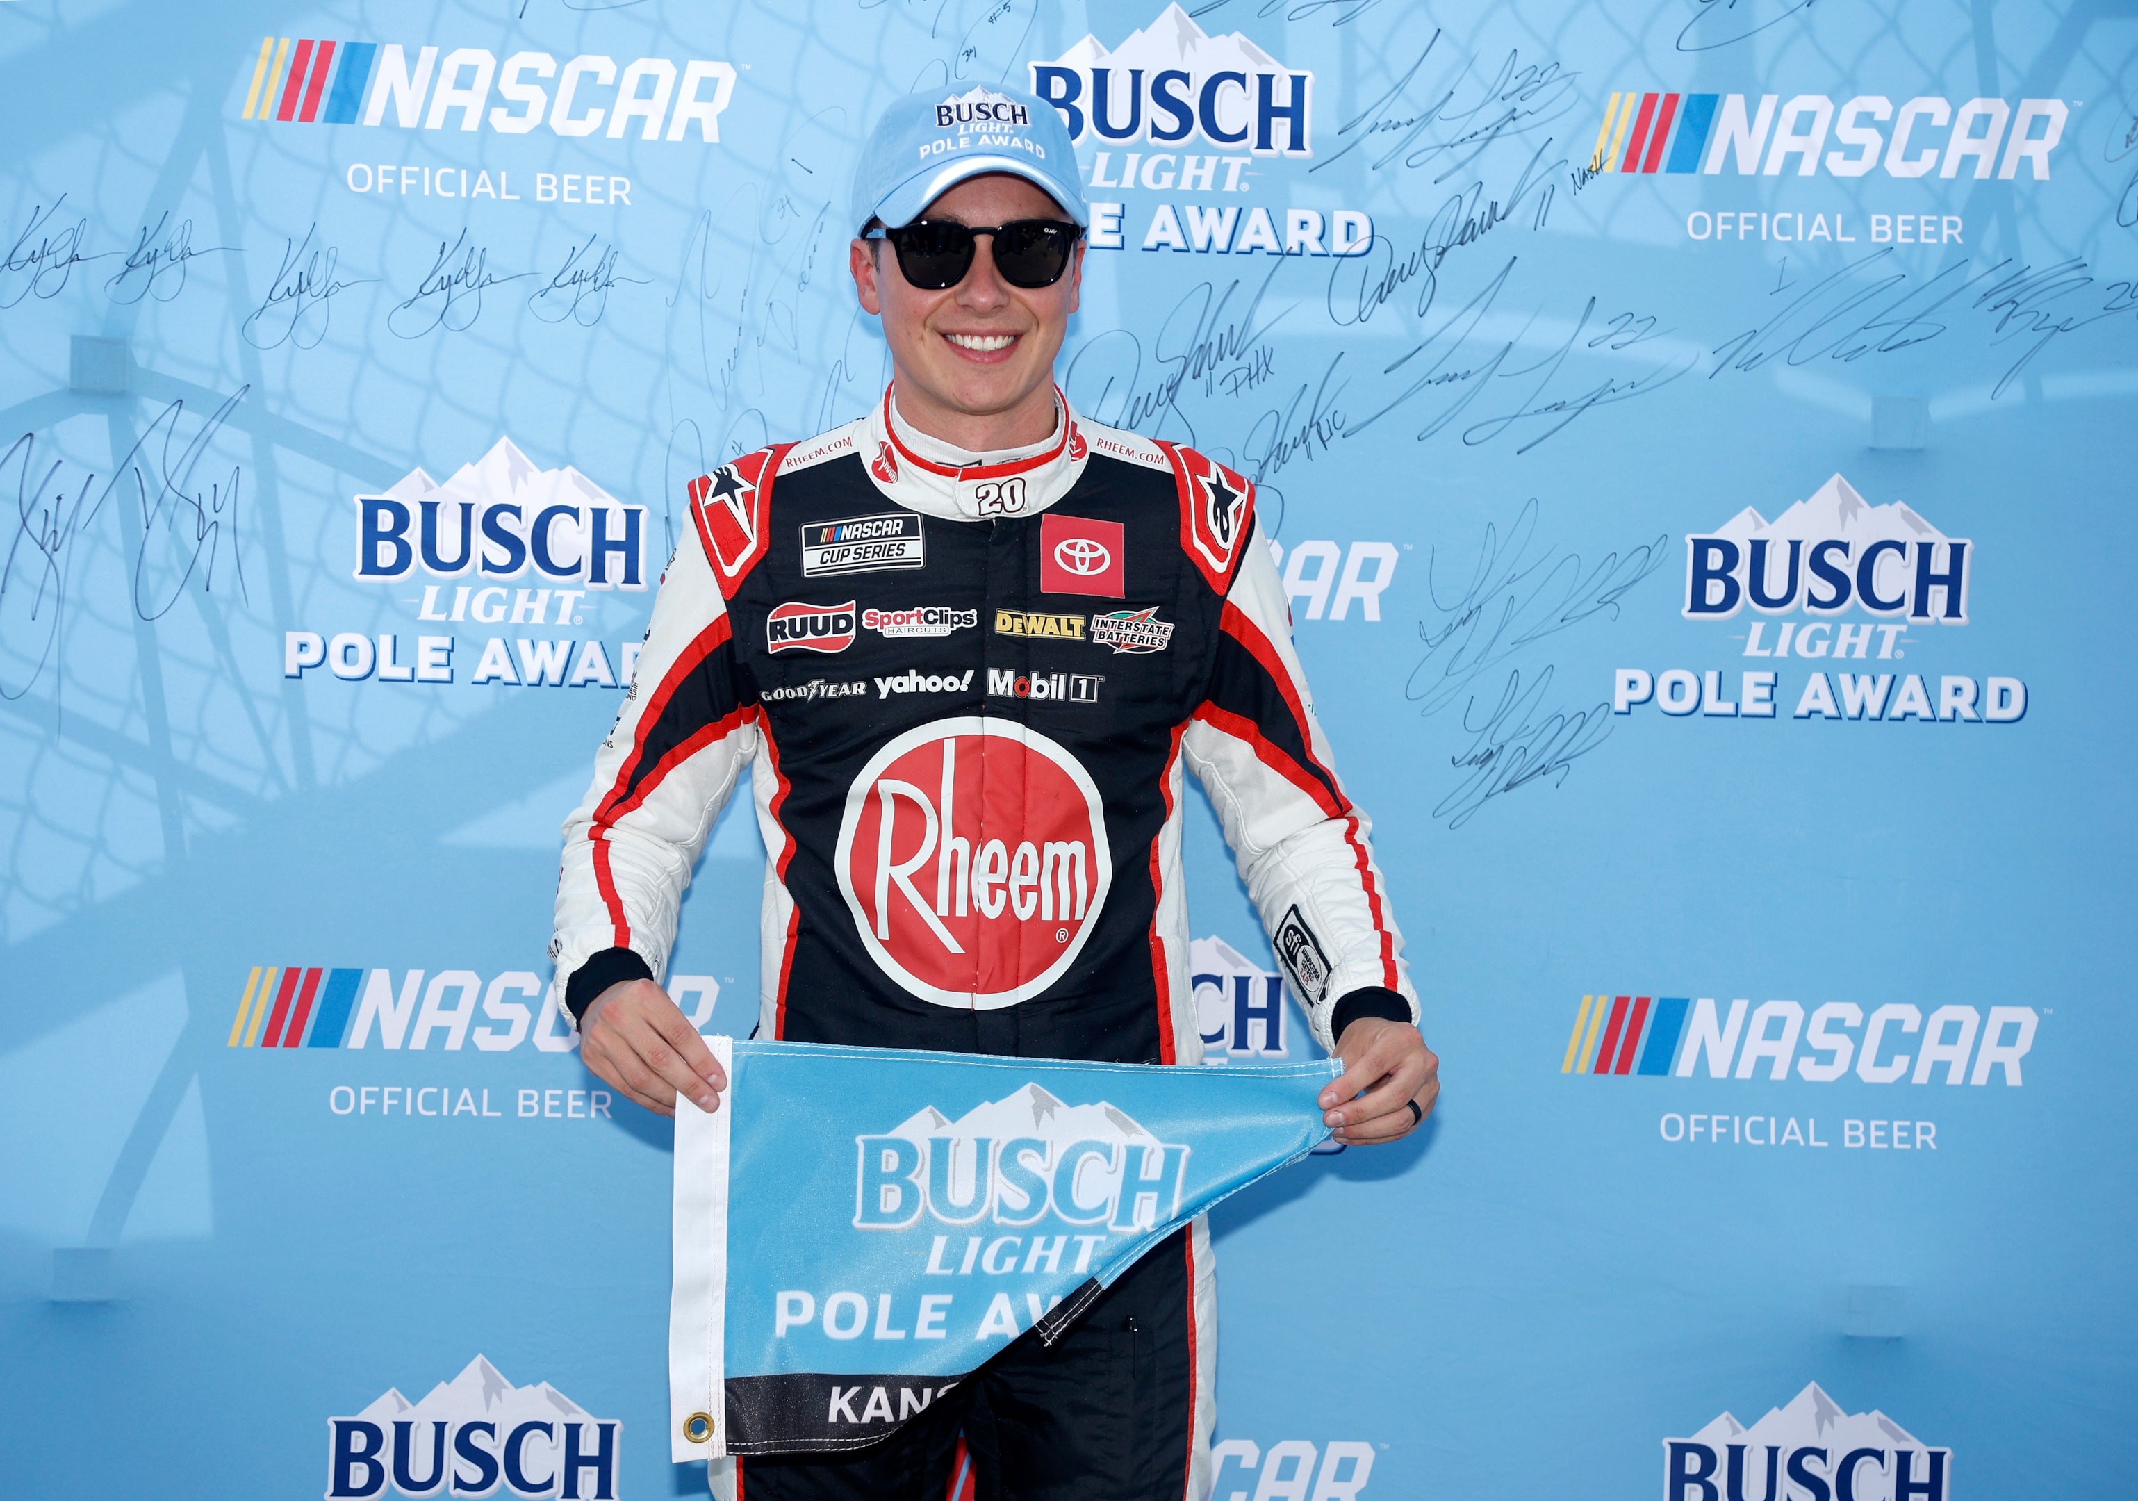
[(883, 746), (847, 791), (836, 866), (883, 973), (981, 1011), (1060, 979), (1112, 883), (1090, 774), (1039, 731), (988, 716)]

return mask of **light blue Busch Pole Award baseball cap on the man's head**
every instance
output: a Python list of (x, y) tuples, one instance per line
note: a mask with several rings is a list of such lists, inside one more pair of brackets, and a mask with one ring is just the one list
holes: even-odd
[(853, 175), (853, 233), (872, 218), (911, 225), (941, 195), (988, 171), (1024, 177), (1090, 229), (1060, 111), (1013, 88), (977, 86), (907, 94), (883, 111)]

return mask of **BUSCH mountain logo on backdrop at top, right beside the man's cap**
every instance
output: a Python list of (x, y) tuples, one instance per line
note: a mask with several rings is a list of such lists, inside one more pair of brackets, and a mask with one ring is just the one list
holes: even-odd
[(1242, 32), (1208, 34), (1178, 4), (1107, 49), (1086, 34), (1033, 64), (1033, 92), (1071, 141), (1202, 141), (1219, 152), (1313, 156), (1315, 75), (1291, 71)]

